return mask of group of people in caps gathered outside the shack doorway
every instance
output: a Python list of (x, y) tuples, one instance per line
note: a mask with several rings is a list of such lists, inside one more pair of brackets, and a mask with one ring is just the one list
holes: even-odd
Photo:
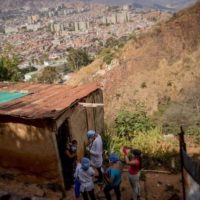
[[(86, 156), (77, 163), (74, 178), (75, 186), (78, 180), (80, 193), (84, 200), (96, 200), (94, 184), (103, 183), (104, 195), (106, 200), (111, 200), (110, 192), (114, 190), (116, 199), (121, 199), (120, 185), (122, 182), (122, 161), (116, 153), (111, 153), (108, 157), (109, 166), (103, 169), (103, 142), (99, 134), (93, 130), (87, 132), (89, 145), (86, 148)], [(77, 148), (77, 142), (73, 141)], [(74, 148), (74, 149), (76, 149)], [(138, 200), (140, 195), (139, 176), (141, 169), (141, 152), (137, 149), (122, 148), (121, 152), (124, 154), (124, 161), (129, 165), (128, 178), (133, 190), (133, 200)], [(69, 152), (66, 150), (66, 155), (75, 157), (75, 151)], [(98, 176), (95, 177), (95, 169)], [(95, 180), (96, 178), (96, 180)], [(75, 188), (76, 189), (76, 188)], [(77, 196), (78, 197), (78, 196)]]

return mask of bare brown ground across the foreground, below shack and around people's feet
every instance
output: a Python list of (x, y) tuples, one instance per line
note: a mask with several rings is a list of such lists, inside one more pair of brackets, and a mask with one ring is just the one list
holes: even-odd
[[(180, 174), (145, 172), (145, 175), (143, 177), (144, 180), (140, 181), (140, 200), (168, 200), (174, 193), (178, 194), (178, 196), (181, 197)], [(6, 193), (11, 194), (15, 200), (21, 200), (22, 197), (31, 197), (34, 200), (75, 200), (73, 188), (67, 191), (66, 197), (63, 198), (62, 194), (58, 191), (41, 188), (38, 184), (20, 183), (12, 180), (12, 178), (9, 176), (3, 176), (0, 177), (0, 196)], [(102, 185), (95, 185), (95, 193), (97, 199), (105, 199)], [(123, 172), (121, 193), (122, 200), (130, 200), (132, 197), (132, 190), (128, 181), (127, 171)], [(115, 199), (115, 195), (113, 192), (112, 199)]]

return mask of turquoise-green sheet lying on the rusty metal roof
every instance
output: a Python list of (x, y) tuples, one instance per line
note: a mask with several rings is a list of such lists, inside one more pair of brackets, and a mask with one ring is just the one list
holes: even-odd
[(28, 93), (23, 92), (1, 92), (0, 91), (0, 103), (6, 103), (14, 99), (18, 99), (28, 95)]

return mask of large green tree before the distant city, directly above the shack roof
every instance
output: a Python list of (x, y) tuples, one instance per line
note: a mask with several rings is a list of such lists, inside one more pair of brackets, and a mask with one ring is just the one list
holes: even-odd
[(92, 61), (84, 49), (70, 48), (68, 53), (68, 66), (72, 71), (79, 70), (82, 66), (88, 65)]

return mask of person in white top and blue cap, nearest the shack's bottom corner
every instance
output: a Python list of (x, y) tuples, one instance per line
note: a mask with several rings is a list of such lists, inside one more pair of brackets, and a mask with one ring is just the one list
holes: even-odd
[(96, 200), (93, 182), (94, 174), (93, 168), (90, 167), (90, 160), (86, 157), (82, 158), (81, 165), (76, 168), (75, 178), (79, 178), (81, 183), (80, 191), (84, 200)]

